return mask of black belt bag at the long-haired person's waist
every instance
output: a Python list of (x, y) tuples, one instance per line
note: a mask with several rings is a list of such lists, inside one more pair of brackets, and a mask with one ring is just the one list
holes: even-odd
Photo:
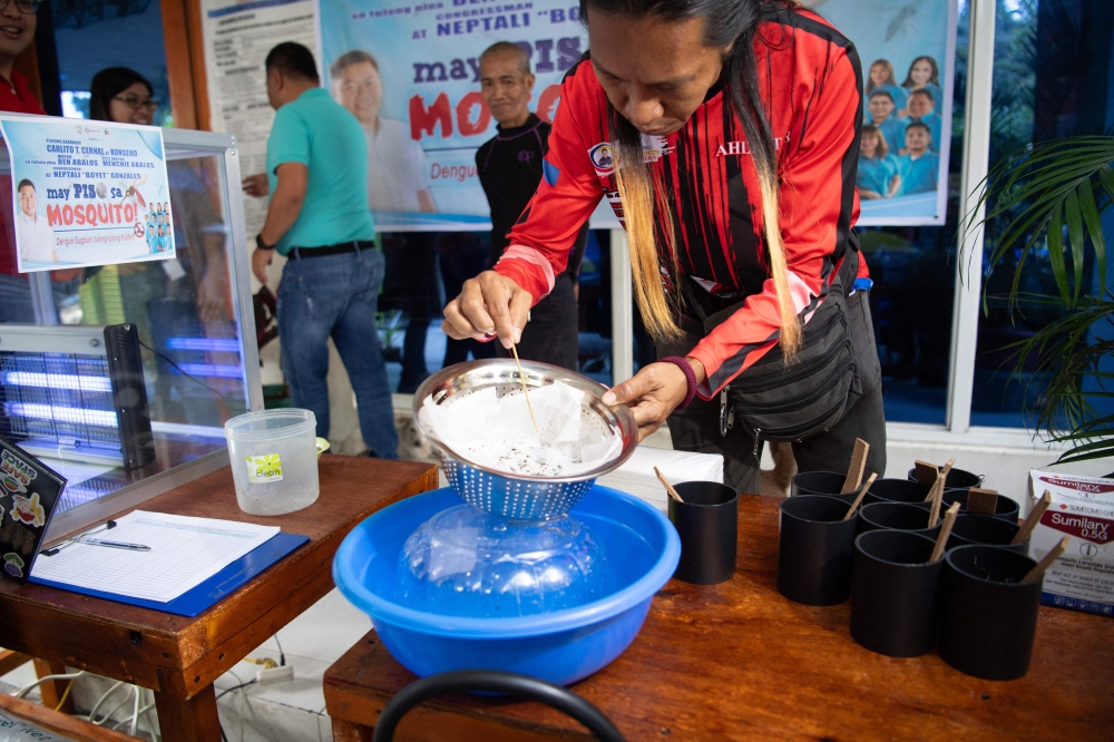
[[(859, 252), (850, 246), (840, 272), (801, 330), (801, 346), (788, 361), (774, 345), (723, 389), (720, 432), (737, 420), (759, 441), (800, 441), (836, 424), (862, 396), (859, 364), (851, 342), (847, 299), (859, 271)], [(725, 322), (742, 302), (707, 316), (704, 335)]]

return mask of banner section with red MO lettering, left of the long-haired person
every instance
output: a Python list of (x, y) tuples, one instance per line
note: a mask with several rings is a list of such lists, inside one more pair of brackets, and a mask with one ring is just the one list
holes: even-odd
[[(476, 150), (496, 123), (480, 52), (496, 41), (526, 48), (530, 108), (551, 121), (561, 78), (587, 49), (577, 0), (323, 0), (320, 13), (324, 85), (368, 133), (377, 226), (490, 228)], [(596, 214), (597, 226), (618, 226), (609, 208)]]

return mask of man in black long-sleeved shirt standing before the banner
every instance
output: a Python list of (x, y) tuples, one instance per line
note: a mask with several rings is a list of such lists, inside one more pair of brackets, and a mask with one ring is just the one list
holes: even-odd
[[(499, 134), (476, 153), (483, 193), (491, 205), (491, 264), (507, 247), (507, 233), (541, 182), (541, 158), (549, 140), (549, 125), (530, 113), (534, 89), (530, 58), (520, 47), (500, 41), (480, 55), (480, 85)], [(518, 344), (520, 357), (576, 371), (576, 279), (587, 242), (588, 225), (580, 228), (568, 267), (554, 289), (530, 311), (530, 321)], [(501, 345), (497, 349), (502, 351)]]

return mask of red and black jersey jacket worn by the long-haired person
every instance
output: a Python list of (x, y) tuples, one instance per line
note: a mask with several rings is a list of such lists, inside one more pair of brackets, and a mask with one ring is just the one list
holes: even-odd
[[(763, 21), (754, 55), (762, 105), (778, 145), (790, 293), (808, 321), (848, 250), (854, 250), (862, 71), (854, 46), (809, 11)], [(561, 85), (545, 177), (495, 269), (535, 301), (565, 269), (577, 230), (600, 197), (623, 221), (608, 110), (590, 60), (582, 61)], [(722, 84), (709, 91), (684, 128), (668, 137), (644, 136), (643, 147), (646, 162), (672, 191), (681, 271), (713, 296), (731, 303), (745, 299), (690, 353), (707, 372), (700, 396), (711, 399), (778, 342), (781, 328), (765, 267), (758, 175)], [(674, 283), (666, 267), (671, 263), (662, 261), (666, 287)], [(867, 275), (864, 261), (858, 275)]]

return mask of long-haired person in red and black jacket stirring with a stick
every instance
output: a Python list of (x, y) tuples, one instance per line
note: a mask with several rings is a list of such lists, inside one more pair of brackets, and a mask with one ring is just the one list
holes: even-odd
[(446, 332), (517, 341), (604, 197), (664, 361), (604, 401), (629, 404), (643, 436), (668, 417), (674, 446), (723, 453), (743, 491), (759, 489), (762, 440), (792, 441), (802, 471), (839, 471), (863, 438), (867, 470), (881, 475), (880, 371), (852, 231), (853, 45), (788, 0), (580, 9), (592, 58), (563, 84), (543, 183), (495, 270), (446, 307)]

